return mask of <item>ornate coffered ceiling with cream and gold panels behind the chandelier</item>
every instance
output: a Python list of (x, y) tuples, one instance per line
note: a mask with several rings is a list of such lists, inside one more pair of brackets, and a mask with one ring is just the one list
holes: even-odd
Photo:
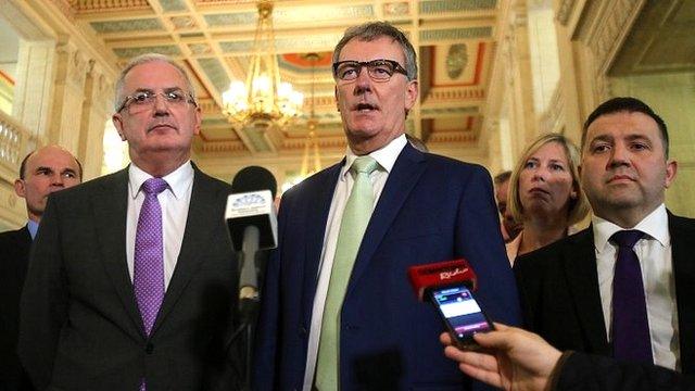
[[(194, 77), (204, 121), (200, 155), (275, 155), (304, 149), (308, 114), (267, 134), (235, 128), (222, 115), (222, 92), (244, 80), (256, 26), (251, 0), (66, 0), (64, 13), (94, 31), (119, 63), (144, 52), (168, 54)], [(349, 26), (386, 20), (418, 50), (421, 96), (408, 133), (430, 148), (475, 147), (480, 136), (496, 21), (496, 0), (279, 0), (274, 25), (280, 77), (304, 92), (315, 83), (321, 151), (344, 150), (330, 74), (332, 48)], [(314, 78), (304, 55), (318, 52)]]

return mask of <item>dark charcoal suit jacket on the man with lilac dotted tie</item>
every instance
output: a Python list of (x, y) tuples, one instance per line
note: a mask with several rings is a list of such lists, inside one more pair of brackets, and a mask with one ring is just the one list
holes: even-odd
[(20, 357), (38, 389), (233, 390), (238, 268), (230, 186), (194, 171), (180, 254), (150, 337), (126, 264), (128, 171), (49, 198), (22, 295)]

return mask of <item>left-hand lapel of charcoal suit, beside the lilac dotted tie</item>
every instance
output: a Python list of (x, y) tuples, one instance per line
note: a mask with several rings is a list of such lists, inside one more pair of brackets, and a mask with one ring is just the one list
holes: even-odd
[(97, 190), (93, 203), (97, 238), (101, 260), (116, 293), (136, 325), (131, 331), (142, 337), (142, 318), (132, 292), (132, 282), (126, 260), (126, 218), (128, 210), (128, 168), (115, 173)]

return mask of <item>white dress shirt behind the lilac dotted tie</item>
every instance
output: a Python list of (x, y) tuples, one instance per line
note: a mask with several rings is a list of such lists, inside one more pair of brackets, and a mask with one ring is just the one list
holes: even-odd
[[(126, 258), (128, 273), (132, 281), (135, 266), (135, 235), (138, 229), (140, 209), (144, 202), (144, 192), (140, 191), (142, 184), (152, 176), (135, 164), (128, 168), (128, 216), (126, 222)], [(184, 163), (172, 174), (163, 177), (168, 188), (157, 194), (162, 206), (162, 240), (164, 245), (164, 290), (169, 286), (176, 260), (181, 251), (186, 220), (188, 219), (188, 206), (191, 201), (193, 188), (193, 167), (190, 161)]]

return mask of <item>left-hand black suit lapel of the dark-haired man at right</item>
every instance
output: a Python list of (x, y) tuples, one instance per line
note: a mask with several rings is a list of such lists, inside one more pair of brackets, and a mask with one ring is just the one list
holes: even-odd
[(574, 242), (564, 248), (566, 280), (576, 304), (577, 317), (591, 351), (610, 355), (608, 337), (598, 291), (596, 252), (592, 226), (573, 237)]

